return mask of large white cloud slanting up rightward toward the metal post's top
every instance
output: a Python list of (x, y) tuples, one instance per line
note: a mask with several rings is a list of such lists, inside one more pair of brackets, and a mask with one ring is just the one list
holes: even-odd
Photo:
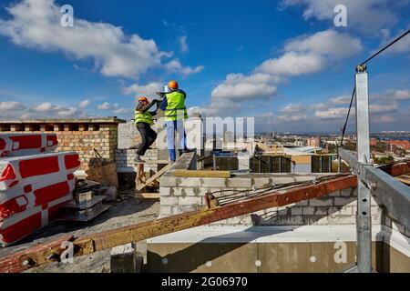
[[(359, 38), (332, 29), (292, 38), (284, 45), (282, 55), (264, 61), (249, 75), (227, 75), (226, 79), (212, 90), (211, 106), (216, 107), (213, 104), (221, 99), (242, 102), (272, 97), (277, 95), (277, 85), (286, 77), (320, 72), (330, 63), (355, 55), (362, 49)], [(230, 112), (228, 110), (226, 114)], [(302, 115), (298, 117), (303, 118)]]

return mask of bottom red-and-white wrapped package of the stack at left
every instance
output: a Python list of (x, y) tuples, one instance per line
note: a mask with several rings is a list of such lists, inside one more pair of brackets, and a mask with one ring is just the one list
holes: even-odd
[(71, 194), (62, 196), (48, 204), (36, 206), (0, 220), (0, 245), (8, 246), (13, 244), (46, 226), (50, 220), (56, 218), (58, 209), (67, 201), (70, 201), (71, 198)]

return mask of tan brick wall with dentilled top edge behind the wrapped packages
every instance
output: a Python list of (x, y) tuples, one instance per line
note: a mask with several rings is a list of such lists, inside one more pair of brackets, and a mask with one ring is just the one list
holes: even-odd
[(81, 170), (87, 170), (97, 161), (93, 160), (93, 148), (107, 161), (115, 160), (118, 147), (117, 118), (98, 119), (49, 119), (49, 120), (2, 120), (1, 132), (55, 133), (57, 151), (77, 151)]

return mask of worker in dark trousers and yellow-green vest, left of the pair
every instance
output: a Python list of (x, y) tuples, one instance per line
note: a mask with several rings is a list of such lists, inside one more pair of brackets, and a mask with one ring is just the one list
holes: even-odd
[(157, 104), (158, 100), (154, 99), (151, 103), (145, 96), (140, 96), (138, 98), (138, 105), (135, 108), (135, 124), (139, 134), (141, 135), (141, 143), (137, 146), (131, 146), (130, 148), (138, 149), (137, 155), (135, 158), (136, 163), (145, 163), (141, 159), (141, 156), (145, 155), (145, 152), (149, 149), (155, 140), (157, 139), (157, 133), (151, 128), (151, 125), (154, 124), (152, 121), (152, 116), (157, 115), (156, 111), (149, 112), (149, 108)]

